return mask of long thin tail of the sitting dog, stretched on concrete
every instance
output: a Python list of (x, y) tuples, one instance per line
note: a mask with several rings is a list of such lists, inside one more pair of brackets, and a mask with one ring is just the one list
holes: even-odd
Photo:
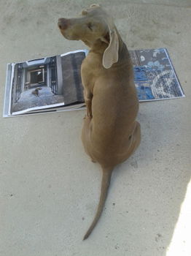
[(98, 219), (101, 217), (101, 213), (104, 208), (104, 204), (106, 202), (106, 196), (109, 189), (109, 184), (112, 176), (112, 170), (113, 168), (103, 169), (102, 173), (102, 181), (101, 181), (101, 195), (99, 199), (98, 209), (95, 214), (95, 217), (93, 219), (92, 224), (90, 225), (89, 229), (87, 230), (87, 233), (85, 234), (83, 240), (87, 239), (88, 236), (90, 236), (90, 233), (92, 233), (93, 228), (98, 222)]

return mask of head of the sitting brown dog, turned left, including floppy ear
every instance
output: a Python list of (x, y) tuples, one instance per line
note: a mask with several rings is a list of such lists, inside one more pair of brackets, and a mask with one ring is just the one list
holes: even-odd
[(66, 39), (82, 40), (90, 48), (98, 42), (105, 44), (103, 66), (106, 69), (118, 61), (117, 29), (110, 15), (98, 4), (92, 4), (82, 10), (79, 18), (60, 18), (58, 27)]

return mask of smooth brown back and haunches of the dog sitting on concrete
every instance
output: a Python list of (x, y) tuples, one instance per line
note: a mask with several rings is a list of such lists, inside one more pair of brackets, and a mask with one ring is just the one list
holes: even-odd
[(105, 167), (114, 167), (128, 159), (140, 142), (139, 124), (135, 121), (139, 101), (133, 67), (126, 45), (120, 42), (120, 47), (119, 59), (110, 69), (103, 67), (103, 56), (96, 50), (82, 64), (82, 79), (88, 78), (93, 92), (93, 118), (88, 128), (85, 126), (88, 131), (84, 131), (82, 140), (88, 154)]

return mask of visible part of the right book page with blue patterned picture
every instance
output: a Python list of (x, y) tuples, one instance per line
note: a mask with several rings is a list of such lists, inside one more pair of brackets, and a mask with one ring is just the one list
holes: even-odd
[(140, 102), (184, 97), (165, 48), (130, 50)]

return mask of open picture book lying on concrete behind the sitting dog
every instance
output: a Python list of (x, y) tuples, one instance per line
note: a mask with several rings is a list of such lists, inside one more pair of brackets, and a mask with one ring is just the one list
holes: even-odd
[[(85, 108), (80, 68), (88, 50), (7, 64), (4, 117)], [(165, 48), (130, 50), (139, 101), (184, 97)]]

